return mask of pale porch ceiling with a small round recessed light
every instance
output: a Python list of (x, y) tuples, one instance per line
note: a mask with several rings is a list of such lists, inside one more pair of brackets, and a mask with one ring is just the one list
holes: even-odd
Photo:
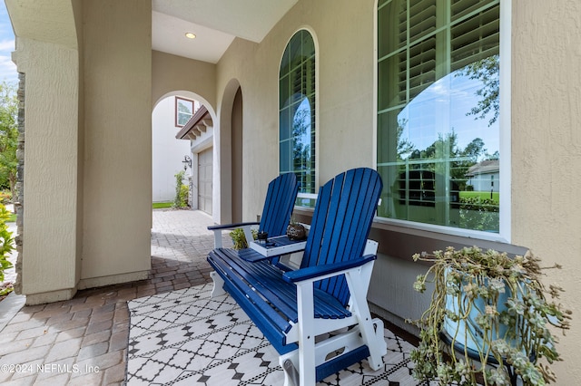
[(236, 37), (260, 43), (297, 1), (153, 0), (152, 48), (217, 63)]

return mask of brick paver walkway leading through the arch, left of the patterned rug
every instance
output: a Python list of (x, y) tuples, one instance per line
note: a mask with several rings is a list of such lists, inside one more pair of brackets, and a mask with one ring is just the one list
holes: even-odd
[[(212, 218), (202, 212), (154, 210), (147, 280), (23, 307), (0, 331), (0, 383), (123, 384), (129, 336), (126, 302), (210, 282), (205, 259), (213, 246), (209, 225)], [(222, 238), (224, 246), (231, 245), (227, 233)]]

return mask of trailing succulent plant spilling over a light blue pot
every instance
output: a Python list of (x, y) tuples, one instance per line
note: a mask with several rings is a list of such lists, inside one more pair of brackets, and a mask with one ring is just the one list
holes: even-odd
[[(556, 298), (563, 289), (541, 283), (540, 260), (476, 246), (413, 256), (431, 265), (414, 289), (434, 284), (418, 321), (419, 347), (411, 353), (418, 380), (440, 384), (543, 385), (555, 381), (559, 361), (552, 326), (569, 328), (570, 311)], [(551, 268), (560, 268), (554, 265)], [(500, 363), (501, 365), (498, 365)]]

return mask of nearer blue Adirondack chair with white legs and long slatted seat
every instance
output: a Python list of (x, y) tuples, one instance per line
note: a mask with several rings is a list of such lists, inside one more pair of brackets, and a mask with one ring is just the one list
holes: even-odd
[(279, 352), (287, 385), (313, 385), (365, 358), (373, 370), (382, 366), (383, 323), (371, 319), (367, 304), (377, 252), (368, 236), (381, 189), (379, 174), (366, 168), (321, 187), (295, 271), (245, 261), (224, 248), (208, 256), (222, 279), (214, 285), (231, 294)]

